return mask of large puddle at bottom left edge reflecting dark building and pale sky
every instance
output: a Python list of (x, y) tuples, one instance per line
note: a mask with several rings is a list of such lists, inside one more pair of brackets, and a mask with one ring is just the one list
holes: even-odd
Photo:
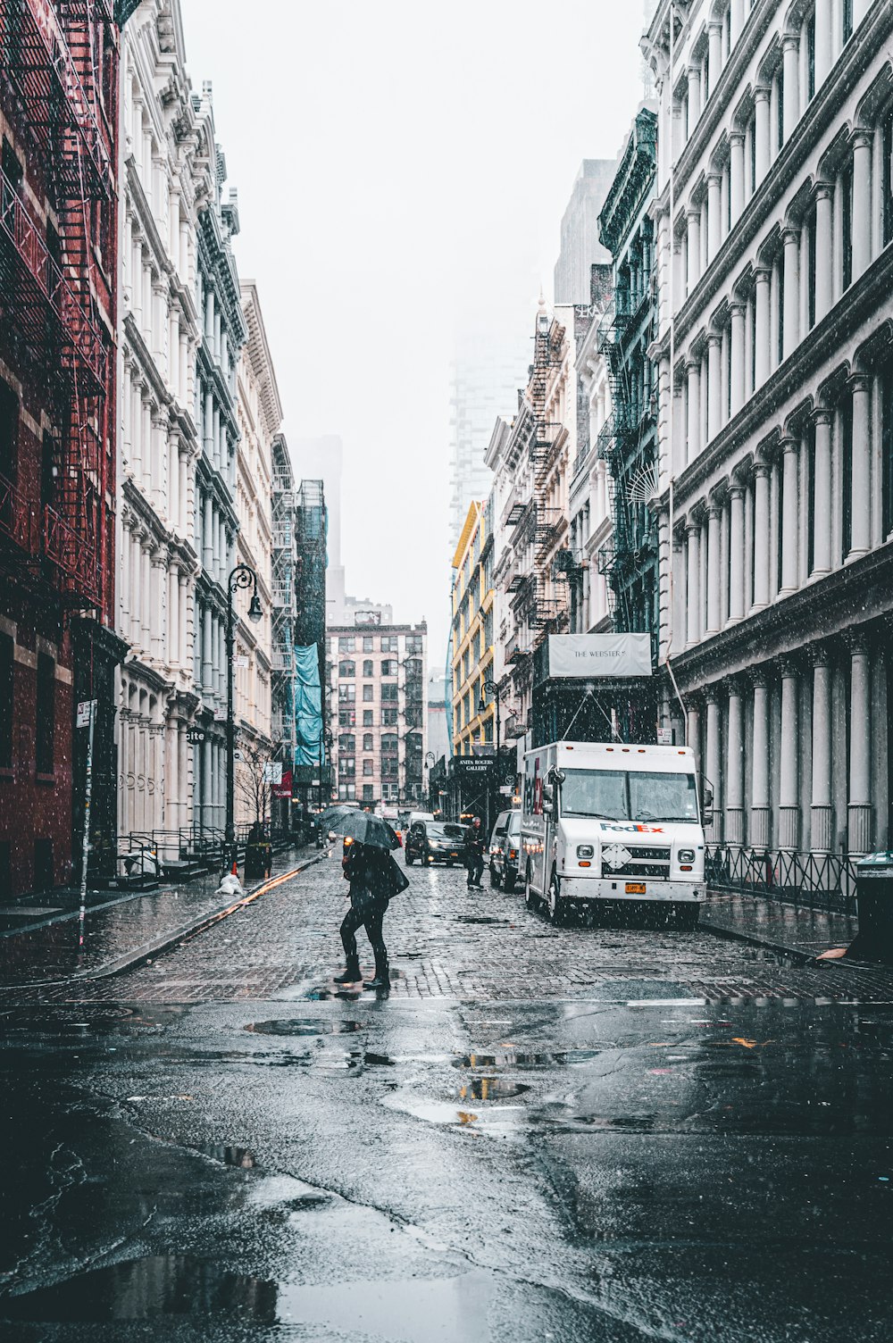
[(493, 1280), (479, 1272), (301, 1287), (231, 1273), (191, 1254), (150, 1254), (8, 1296), (0, 1313), (5, 1320), (60, 1324), (227, 1316), (361, 1330), (395, 1343), (483, 1343), (491, 1299)]

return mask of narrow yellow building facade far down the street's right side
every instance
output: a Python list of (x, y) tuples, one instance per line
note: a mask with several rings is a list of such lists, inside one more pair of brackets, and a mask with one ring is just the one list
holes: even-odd
[(491, 518), (489, 501), (470, 504), (453, 556), (454, 756), (473, 755), (473, 745), (494, 749), (496, 705), (485, 692), (485, 681), (493, 677)]

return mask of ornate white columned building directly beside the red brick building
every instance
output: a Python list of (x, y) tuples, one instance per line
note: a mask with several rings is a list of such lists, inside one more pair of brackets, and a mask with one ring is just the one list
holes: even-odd
[[(191, 821), (196, 211), (208, 126), (184, 67), (179, 0), (142, 0), (122, 38), (118, 834)], [(212, 142), (211, 142), (212, 148)], [(175, 849), (176, 854), (176, 849)]]

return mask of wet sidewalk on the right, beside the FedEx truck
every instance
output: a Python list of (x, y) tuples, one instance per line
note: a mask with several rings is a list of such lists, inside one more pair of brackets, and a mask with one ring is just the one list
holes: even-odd
[(720, 937), (735, 937), (800, 960), (814, 960), (831, 947), (849, 947), (858, 932), (858, 920), (760, 896), (710, 890), (701, 908), (701, 927)]

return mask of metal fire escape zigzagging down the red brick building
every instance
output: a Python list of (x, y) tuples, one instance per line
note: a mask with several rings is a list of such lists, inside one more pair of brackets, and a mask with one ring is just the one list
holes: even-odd
[(106, 277), (117, 265), (106, 130), (117, 121), (111, 0), (0, 0), (0, 42), (11, 120), (55, 212), (55, 227), (32, 212), (21, 179), (15, 180), (16, 165), (8, 164), (0, 181), (0, 316), (23, 367), (44, 384), (55, 434), (44, 439), (39, 492), (30, 497), (0, 479), (0, 530), (66, 604), (110, 618), (114, 291)]

